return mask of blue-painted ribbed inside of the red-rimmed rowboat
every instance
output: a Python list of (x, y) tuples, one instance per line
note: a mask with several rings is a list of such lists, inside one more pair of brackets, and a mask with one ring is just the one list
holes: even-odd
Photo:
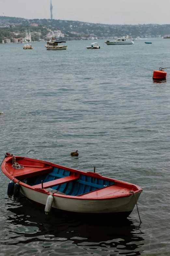
[[(53, 171), (48, 174), (39, 175), (33, 178), (28, 178), (28, 183), (30, 186), (35, 186), (40, 184), (41, 181), (43, 183), (64, 178), (69, 175), (72, 175), (73, 172), (68, 170), (64, 170), (61, 168), (54, 167)], [(105, 180), (101, 178), (94, 178), (88, 175), (80, 174), (79, 178), (74, 181), (70, 181), (64, 184), (60, 184), (57, 186), (51, 187), (51, 189), (57, 190), (61, 193), (64, 193), (69, 196), (79, 196), (91, 191), (94, 191), (99, 188), (104, 188), (109, 185), (113, 185), (114, 182), (111, 180)]]

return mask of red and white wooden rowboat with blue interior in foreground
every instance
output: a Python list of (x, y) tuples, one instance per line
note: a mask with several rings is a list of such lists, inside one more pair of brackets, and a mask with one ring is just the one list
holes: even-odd
[[(137, 185), (104, 177), (95, 170), (79, 171), (10, 153), (6, 153), (1, 169), (11, 180), (9, 198), (18, 198), (19, 190), (30, 202), (46, 208), (50, 198), (52, 210), (127, 217), (142, 192)], [(46, 208), (46, 213), (50, 212)]]

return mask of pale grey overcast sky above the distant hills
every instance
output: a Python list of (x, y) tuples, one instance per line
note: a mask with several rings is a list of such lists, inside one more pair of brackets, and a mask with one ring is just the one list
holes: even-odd
[[(52, 0), (53, 19), (103, 24), (170, 24), (170, 0)], [(50, 0), (0, 0), (0, 15), (49, 19)]]

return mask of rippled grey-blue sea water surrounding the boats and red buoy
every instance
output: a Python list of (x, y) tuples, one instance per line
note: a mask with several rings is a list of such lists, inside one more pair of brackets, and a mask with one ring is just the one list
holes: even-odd
[[(0, 255), (170, 255), (170, 40), (87, 50), (90, 41), (0, 44), (0, 162), (5, 152), (135, 183), (126, 221), (80, 219), (7, 197), (0, 172)], [(78, 159), (70, 152), (78, 150)]]

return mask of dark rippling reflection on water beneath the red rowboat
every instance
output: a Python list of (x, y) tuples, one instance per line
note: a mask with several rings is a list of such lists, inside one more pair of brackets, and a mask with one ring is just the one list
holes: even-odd
[(80, 219), (60, 212), (51, 212), (47, 216), (43, 208), (31, 204), (26, 199), (21, 199), (20, 202), (18, 207), (14, 201), (7, 203), (9, 212), (5, 222), (9, 224), (9, 233), (2, 241), (4, 246), (17, 245), (19, 251), (20, 248), (28, 248), (28, 245), (31, 247), (34, 243), (39, 250), (48, 248), (46, 255), (52, 251), (57, 252), (57, 243), (60, 244), (60, 249), (64, 247), (63, 252), (66, 250), (65, 246), (68, 249), (70, 246), (70, 250), (79, 251), (78, 255), (95, 252), (100, 255), (133, 253), (138, 256), (143, 252), (143, 233), (130, 219), (120, 222), (115, 222), (107, 216), (100, 219)]

